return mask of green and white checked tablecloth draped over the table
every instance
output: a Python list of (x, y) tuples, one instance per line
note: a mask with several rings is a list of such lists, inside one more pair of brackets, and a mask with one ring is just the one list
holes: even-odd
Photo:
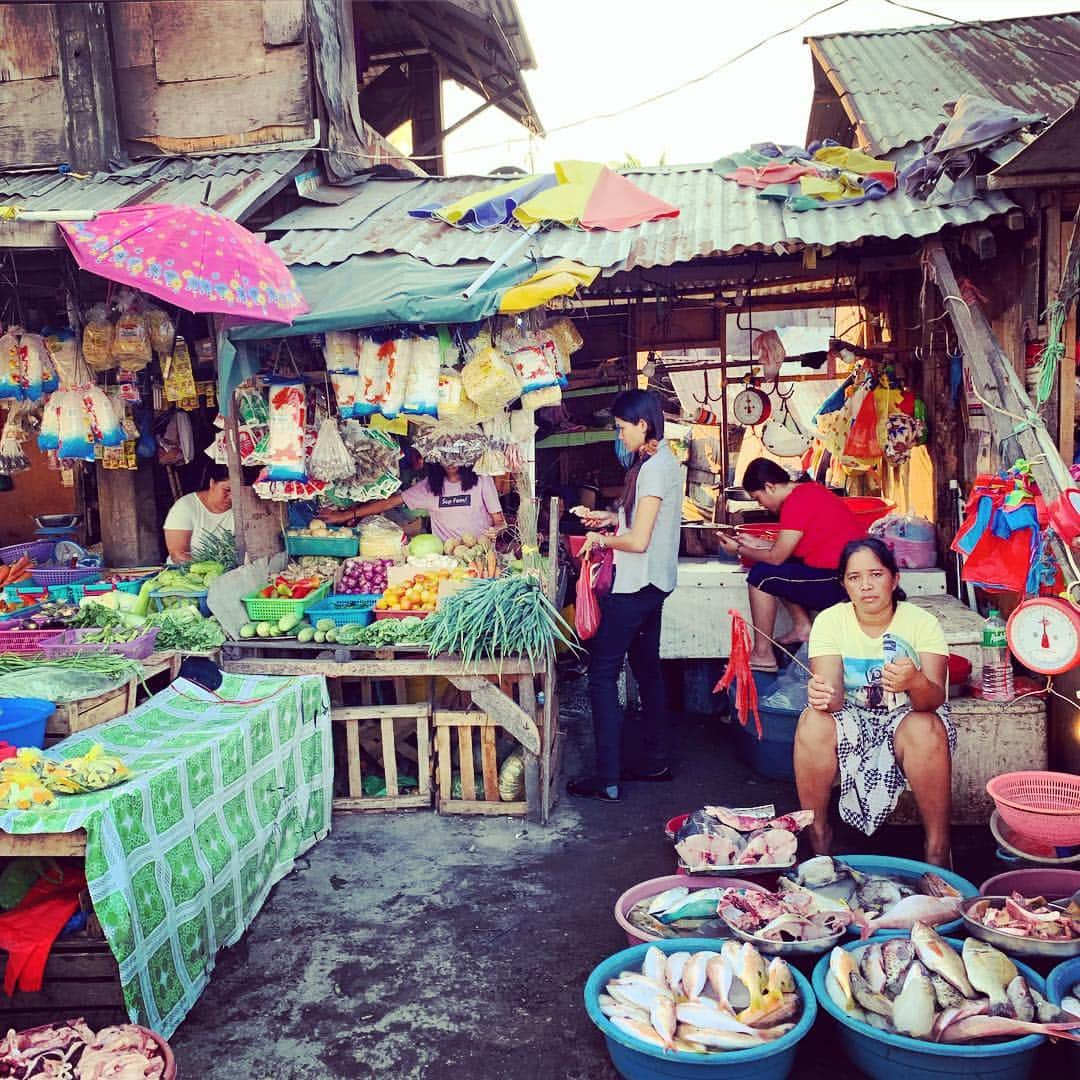
[(134, 1023), (166, 1039), (273, 885), (330, 826), (334, 752), (322, 676), (226, 675), (220, 701), (180, 680), (71, 735), (135, 775), (48, 810), (0, 813), (8, 833), (86, 831), (86, 879)]

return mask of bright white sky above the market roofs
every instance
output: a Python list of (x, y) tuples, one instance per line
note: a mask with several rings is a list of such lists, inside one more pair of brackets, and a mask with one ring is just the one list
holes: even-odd
[[(913, 4), (958, 21), (1080, 9), (1080, 0)], [(525, 81), (550, 134), (530, 138), (490, 108), (448, 137), (450, 174), (483, 174), (500, 165), (545, 171), (575, 158), (691, 164), (751, 143), (801, 145), (813, 89), (805, 37), (936, 22), (888, 0), (517, 0), (517, 8), (537, 58), (537, 69), (526, 71)], [(630, 108), (766, 38), (771, 40), (723, 70)], [(447, 124), (477, 104), (470, 91), (444, 84)], [(607, 112), (620, 114), (576, 123)]]

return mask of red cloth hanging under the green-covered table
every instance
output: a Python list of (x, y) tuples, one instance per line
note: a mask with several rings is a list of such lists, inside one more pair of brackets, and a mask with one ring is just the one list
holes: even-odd
[(53, 942), (79, 909), (79, 893), (86, 888), (81, 866), (65, 866), (60, 881), (38, 878), (17, 907), (0, 915), (0, 948), (8, 950), (3, 988), (40, 990), (45, 961)]

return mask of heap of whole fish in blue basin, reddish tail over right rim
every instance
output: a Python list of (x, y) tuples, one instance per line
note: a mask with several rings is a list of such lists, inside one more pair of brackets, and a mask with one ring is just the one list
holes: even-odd
[(1080, 1016), (1042, 997), (986, 942), (955, 948), (916, 922), (890, 937), (829, 954), (825, 989), (842, 1012), (885, 1031), (929, 1042), (966, 1043), (1045, 1035), (1080, 1042)]

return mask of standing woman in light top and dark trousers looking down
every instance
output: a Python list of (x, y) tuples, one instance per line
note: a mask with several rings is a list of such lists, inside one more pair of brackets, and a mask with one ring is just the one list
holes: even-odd
[[(663, 441), (664, 413), (658, 394), (627, 390), (616, 397), (619, 441), (633, 455), (618, 513), (585, 518), (590, 548), (615, 552), (615, 584), (600, 600), (600, 625), (590, 642), (589, 699), (596, 740), (596, 772), (571, 780), (570, 795), (619, 799), (625, 780), (671, 780), (667, 767), (667, 697), (660, 667), (660, 619), (675, 588), (683, 524), (683, 472)], [(633, 731), (635, 758), (622, 767), (623, 715), (619, 673), (629, 657), (642, 697)]]

